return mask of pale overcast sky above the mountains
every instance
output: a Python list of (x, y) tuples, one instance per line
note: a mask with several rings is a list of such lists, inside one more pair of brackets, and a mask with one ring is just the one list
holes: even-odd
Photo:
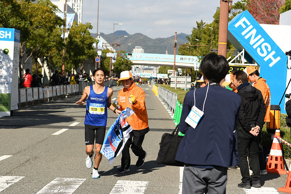
[[(191, 34), (196, 21), (213, 21), (219, 3), (220, 0), (100, 0), (98, 31), (113, 33), (113, 23), (123, 23), (115, 25), (115, 31), (142, 33), (150, 38), (166, 38), (175, 32)], [(93, 33), (97, 32), (97, 7), (98, 0), (83, 0), (82, 22), (90, 22)]]

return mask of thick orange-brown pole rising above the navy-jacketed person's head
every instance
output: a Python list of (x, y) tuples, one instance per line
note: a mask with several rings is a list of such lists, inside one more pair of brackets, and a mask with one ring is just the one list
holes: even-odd
[[(232, 7), (232, 0), (220, 0), (218, 54), (226, 58), (228, 13)], [(228, 8), (230, 3), (230, 8)]]

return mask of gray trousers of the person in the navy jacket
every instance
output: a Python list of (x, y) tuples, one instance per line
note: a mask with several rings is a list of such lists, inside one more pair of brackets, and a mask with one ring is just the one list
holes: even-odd
[(182, 194), (226, 193), (227, 168), (196, 168), (184, 165)]

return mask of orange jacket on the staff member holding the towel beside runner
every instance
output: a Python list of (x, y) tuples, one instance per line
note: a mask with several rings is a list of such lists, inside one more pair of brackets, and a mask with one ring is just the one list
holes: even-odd
[[(134, 104), (129, 103), (130, 95), (136, 97), (136, 102)], [(130, 88), (123, 88), (118, 92), (117, 102), (120, 105), (120, 111), (125, 110), (127, 107), (134, 110), (134, 114), (125, 119), (133, 130), (141, 130), (148, 127), (148, 113), (145, 107), (145, 92), (143, 89), (133, 83)]]

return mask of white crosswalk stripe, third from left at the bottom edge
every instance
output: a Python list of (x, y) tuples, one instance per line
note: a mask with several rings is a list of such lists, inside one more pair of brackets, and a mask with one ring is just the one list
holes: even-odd
[(148, 186), (148, 181), (117, 181), (109, 194), (125, 194), (145, 192)]

